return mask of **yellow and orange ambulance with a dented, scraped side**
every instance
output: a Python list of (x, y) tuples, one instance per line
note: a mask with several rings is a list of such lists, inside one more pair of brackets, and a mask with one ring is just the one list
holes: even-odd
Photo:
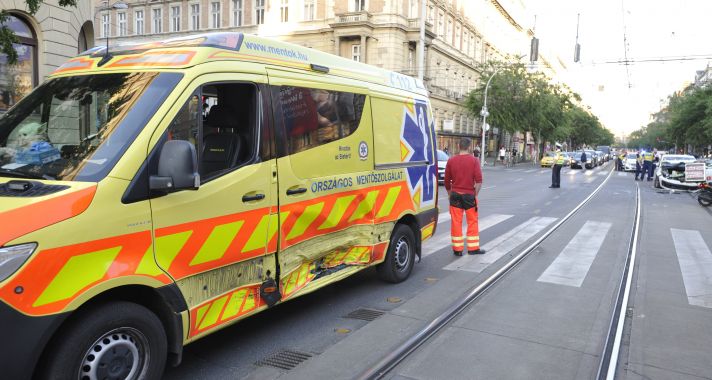
[(411, 77), (240, 33), (94, 48), (0, 118), (2, 377), (159, 378), (182, 347), (437, 223)]

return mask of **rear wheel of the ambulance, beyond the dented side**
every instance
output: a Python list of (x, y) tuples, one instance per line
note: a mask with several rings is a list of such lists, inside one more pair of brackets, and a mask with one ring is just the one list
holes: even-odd
[(415, 262), (415, 235), (405, 224), (396, 224), (385, 260), (376, 266), (381, 280), (397, 284), (405, 281)]

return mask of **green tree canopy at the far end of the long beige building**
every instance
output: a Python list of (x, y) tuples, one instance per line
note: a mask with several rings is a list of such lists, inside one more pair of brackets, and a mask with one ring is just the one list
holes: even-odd
[(510, 133), (532, 132), (541, 141), (570, 141), (574, 146), (611, 145), (613, 134), (598, 118), (579, 105), (581, 97), (554, 85), (540, 72), (529, 72), (523, 63), (490, 62), (481, 67), (483, 81), (471, 91), (465, 107), (479, 115), (487, 91), (487, 124)]

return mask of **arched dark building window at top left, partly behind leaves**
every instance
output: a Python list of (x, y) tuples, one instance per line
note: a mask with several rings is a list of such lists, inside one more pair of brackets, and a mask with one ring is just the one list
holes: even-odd
[(30, 25), (23, 19), (8, 15), (3, 26), (17, 36), (12, 44), (17, 52), (17, 63), (8, 65), (4, 54), (0, 54), (0, 111), (6, 111), (25, 97), (37, 85), (37, 38)]

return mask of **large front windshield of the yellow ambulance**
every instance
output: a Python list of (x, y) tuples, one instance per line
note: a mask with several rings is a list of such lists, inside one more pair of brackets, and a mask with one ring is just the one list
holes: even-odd
[(0, 117), (0, 176), (99, 181), (180, 78), (140, 72), (45, 82)]

